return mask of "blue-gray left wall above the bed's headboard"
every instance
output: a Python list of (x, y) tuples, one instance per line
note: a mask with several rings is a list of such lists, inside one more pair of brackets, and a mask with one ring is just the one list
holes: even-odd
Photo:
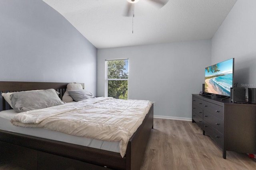
[(96, 94), (96, 47), (42, 0), (0, 0), (0, 25), (0, 81), (84, 82)]

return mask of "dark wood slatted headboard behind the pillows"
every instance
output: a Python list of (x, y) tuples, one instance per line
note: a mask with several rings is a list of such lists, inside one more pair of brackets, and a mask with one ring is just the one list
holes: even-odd
[[(59, 82), (2, 82), (0, 81), (0, 98), (2, 99), (2, 107), (0, 107), (1, 110), (6, 109), (6, 105), (9, 104), (5, 102), (4, 98), (2, 98), (2, 93), (6, 92), (20, 92), (20, 91), (26, 91), (26, 90), (45, 90), (53, 88), (57, 92), (60, 92), (59, 97), (62, 99), (62, 96), (64, 95), (67, 84), (69, 83), (59, 83)], [(82, 84), (84, 88), (84, 83)], [(2, 108), (2, 109), (1, 109)], [(7, 109), (8, 109), (7, 108)]]

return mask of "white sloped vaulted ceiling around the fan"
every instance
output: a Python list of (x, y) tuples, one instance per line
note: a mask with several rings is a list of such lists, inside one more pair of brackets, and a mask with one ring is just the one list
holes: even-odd
[(133, 18), (127, 15), (127, 0), (43, 1), (98, 49), (210, 39), (236, 3), (236, 0), (139, 0), (134, 3)]

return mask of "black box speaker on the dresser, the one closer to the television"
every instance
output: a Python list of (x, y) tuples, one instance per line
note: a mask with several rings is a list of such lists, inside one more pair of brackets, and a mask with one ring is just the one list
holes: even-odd
[(245, 88), (244, 87), (232, 87), (230, 88), (230, 102), (233, 103), (245, 103)]

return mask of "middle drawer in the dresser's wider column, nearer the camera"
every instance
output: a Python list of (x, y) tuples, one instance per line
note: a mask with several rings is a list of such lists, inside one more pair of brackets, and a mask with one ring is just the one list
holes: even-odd
[(208, 113), (207, 111), (204, 112), (204, 121), (207, 121), (212, 127), (214, 127), (217, 131), (223, 134), (224, 123), (223, 120), (218, 119), (214, 115)]

